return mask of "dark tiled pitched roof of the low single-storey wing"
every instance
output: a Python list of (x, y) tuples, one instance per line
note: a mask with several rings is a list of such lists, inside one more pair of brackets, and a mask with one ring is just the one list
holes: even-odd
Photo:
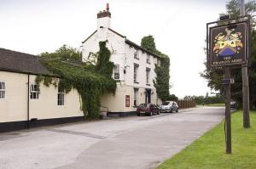
[(50, 72), (40, 64), (38, 56), (0, 48), (0, 70), (33, 75), (49, 75)]

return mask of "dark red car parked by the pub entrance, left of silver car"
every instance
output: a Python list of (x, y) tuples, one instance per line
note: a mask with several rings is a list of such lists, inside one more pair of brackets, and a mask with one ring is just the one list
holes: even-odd
[(154, 114), (160, 115), (160, 111), (155, 104), (139, 104), (137, 107), (137, 115), (149, 115), (152, 116)]

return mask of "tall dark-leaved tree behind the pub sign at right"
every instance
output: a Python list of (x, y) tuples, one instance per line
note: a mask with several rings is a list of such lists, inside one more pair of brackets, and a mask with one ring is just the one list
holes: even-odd
[[(253, 14), (256, 12), (256, 3), (251, 1), (246, 3), (246, 14)], [(240, 1), (230, 0), (226, 3), (226, 13), (230, 14), (231, 18), (236, 18), (240, 15)], [(250, 57), (250, 67), (248, 68), (249, 85), (250, 85), (250, 108), (256, 107), (256, 31), (254, 30), (255, 21), (252, 20), (252, 46)], [(242, 103), (242, 82), (241, 82), (241, 69), (232, 69), (232, 77), (235, 79), (235, 84), (231, 86), (231, 98), (236, 100), (238, 104)], [(201, 76), (207, 79), (208, 87), (224, 93), (224, 87), (221, 84), (223, 79), (224, 70), (222, 69), (206, 69), (201, 73)]]

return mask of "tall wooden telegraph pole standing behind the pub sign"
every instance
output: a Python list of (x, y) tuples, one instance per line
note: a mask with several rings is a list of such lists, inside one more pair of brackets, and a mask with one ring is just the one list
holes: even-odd
[[(241, 2), (241, 16), (245, 15), (245, 3), (244, 0)], [(250, 26), (250, 25), (248, 25)], [(250, 33), (250, 32), (249, 32)], [(249, 82), (248, 82), (248, 69), (247, 65), (241, 65), (241, 76), (242, 76), (242, 110), (243, 110), (243, 127), (250, 127), (250, 115), (249, 115)]]

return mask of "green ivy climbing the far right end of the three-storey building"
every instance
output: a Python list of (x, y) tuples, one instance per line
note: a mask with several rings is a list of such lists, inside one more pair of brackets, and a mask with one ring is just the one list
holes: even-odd
[(155, 48), (154, 37), (151, 35), (143, 37), (141, 46), (142, 48), (147, 49), (149, 52), (160, 56), (160, 65), (155, 65), (154, 69), (156, 74), (154, 79), (154, 87), (156, 88), (158, 97), (162, 101), (166, 101), (170, 95), (170, 59), (166, 54), (162, 54)]

